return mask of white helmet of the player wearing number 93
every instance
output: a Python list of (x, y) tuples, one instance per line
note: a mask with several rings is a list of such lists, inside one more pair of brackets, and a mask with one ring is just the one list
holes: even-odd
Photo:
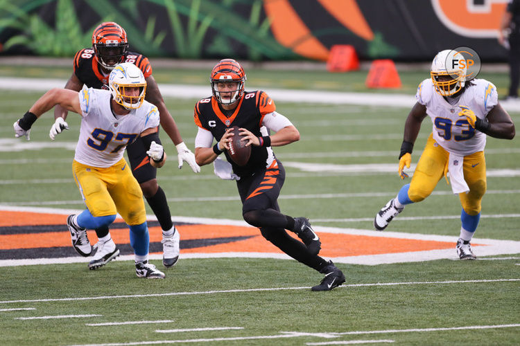
[[(460, 55), (460, 56), (459, 56)], [(458, 93), (466, 83), (467, 67), (460, 67), (458, 60), (463, 60), (462, 54), (451, 49), (437, 53), (431, 63), (431, 80), (435, 91), (442, 96)], [(440, 76), (449, 76), (440, 77)]]

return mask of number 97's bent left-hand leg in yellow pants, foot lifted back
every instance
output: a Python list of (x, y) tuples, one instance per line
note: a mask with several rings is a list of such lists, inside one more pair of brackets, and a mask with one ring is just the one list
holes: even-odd
[(86, 230), (111, 224), (116, 216), (116, 207), (107, 191), (107, 169), (89, 167), (73, 161), (72, 172), (87, 210), (80, 215), (69, 215), (67, 226), (74, 249), (80, 255), (89, 256), (92, 248)]

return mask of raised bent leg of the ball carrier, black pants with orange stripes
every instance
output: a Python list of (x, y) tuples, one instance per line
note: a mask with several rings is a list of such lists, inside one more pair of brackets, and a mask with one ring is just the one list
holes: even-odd
[(320, 252), (320, 238), (305, 217), (290, 217), (274, 208), (285, 181), (285, 169), (279, 161), (273, 161), (262, 173), (248, 181), (237, 182), (243, 203), (242, 215), (248, 224), (262, 228), (284, 228), (291, 230), (306, 245), (311, 253)]

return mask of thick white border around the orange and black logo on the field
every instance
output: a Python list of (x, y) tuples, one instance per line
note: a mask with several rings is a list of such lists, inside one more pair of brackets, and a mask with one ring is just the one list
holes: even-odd
[[(83, 210), (63, 210), (52, 208), (36, 208), (36, 207), (16, 207), (16, 206), (0, 206), (0, 210), (10, 211), (26, 211), (26, 212), (42, 212), (54, 213), (61, 215), (76, 214)], [(155, 216), (148, 215), (148, 220), (157, 220)], [(253, 228), (245, 221), (229, 220), (229, 219), (209, 219), (203, 217), (172, 217), (173, 222), (186, 222), (190, 224), (219, 224), (229, 226), (245, 226)], [(435, 242), (449, 242), (453, 244), (453, 248), (444, 250), (431, 251), (413, 251), (406, 253), (384, 253), (379, 255), (360, 255), (360, 256), (346, 256), (346, 257), (331, 257), (331, 260), (336, 263), (343, 264), (361, 264), (361, 265), (377, 265), (377, 264), (392, 264), (405, 262), (423, 262), (432, 260), (457, 260), (455, 251), (455, 244), (458, 235), (424, 235), (417, 233), (404, 232), (379, 232), (376, 230), (364, 230), (356, 228), (338, 228), (327, 226), (314, 226), (315, 231), (320, 233), (333, 233), (345, 235), (363, 235), (367, 237), (381, 237), (381, 238), (395, 238), (395, 239), (414, 239), (423, 241)], [(485, 239), (473, 238), (471, 244), (474, 245), (474, 252), (477, 257), (492, 256), (492, 255), (514, 255), (520, 253), (520, 242), (514, 240), (499, 240), (499, 239)], [(288, 255), (276, 253), (251, 253), (251, 252), (230, 252), (230, 253), (182, 253), (181, 258), (273, 258), (280, 260), (291, 260)], [(150, 260), (162, 260), (162, 254), (151, 254)], [(0, 260), (0, 266), (24, 266), (36, 264), (67, 264), (67, 263), (86, 263), (89, 262), (89, 257), (64, 257), (64, 258), (40, 258), (28, 260)], [(133, 255), (122, 255), (116, 260), (134, 260)]]

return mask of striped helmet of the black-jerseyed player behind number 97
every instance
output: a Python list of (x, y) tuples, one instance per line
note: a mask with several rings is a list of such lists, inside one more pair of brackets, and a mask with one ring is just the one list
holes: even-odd
[(107, 70), (114, 69), (125, 59), (128, 48), (125, 29), (114, 21), (99, 24), (92, 34), (92, 48), (101, 66)]

